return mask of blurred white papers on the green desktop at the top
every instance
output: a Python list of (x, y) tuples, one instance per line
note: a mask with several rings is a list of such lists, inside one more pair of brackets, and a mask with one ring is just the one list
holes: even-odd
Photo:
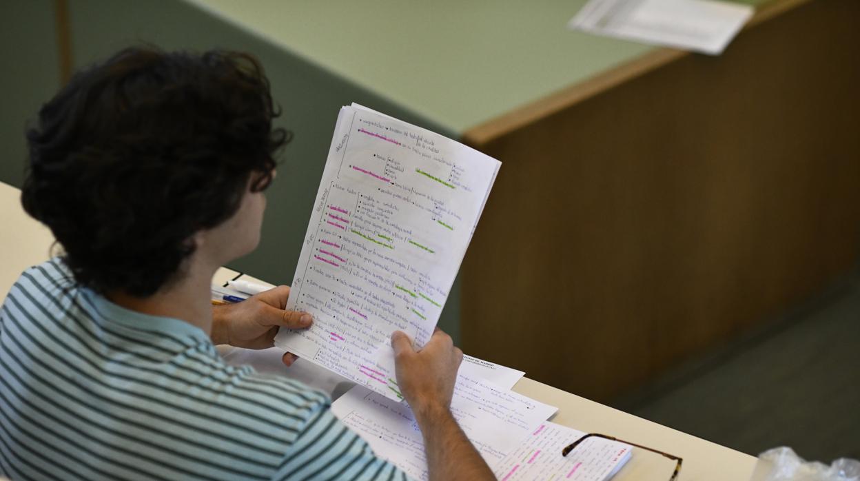
[(752, 15), (749, 5), (716, 0), (591, 0), (568, 27), (719, 55)]

